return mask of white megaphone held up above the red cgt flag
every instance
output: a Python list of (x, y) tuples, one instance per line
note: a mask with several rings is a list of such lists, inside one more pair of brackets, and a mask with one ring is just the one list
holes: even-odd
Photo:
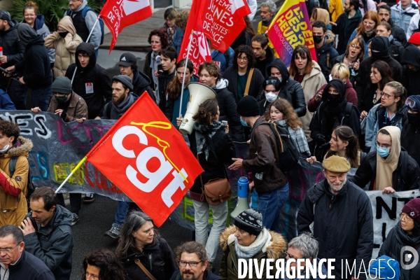
[(202, 83), (190, 83), (188, 85), (188, 90), (190, 90), (190, 102), (188, 103), (186, 116), (183, 116), (182, 123), (179, 126), (179, 132), (184, 135), (193, 132), (193, 116), (198, 112), (198, 106), (200, 106), (204, 100), (216, 98), (216, 92), (214, 92), (211, 87), (203, 85)]

